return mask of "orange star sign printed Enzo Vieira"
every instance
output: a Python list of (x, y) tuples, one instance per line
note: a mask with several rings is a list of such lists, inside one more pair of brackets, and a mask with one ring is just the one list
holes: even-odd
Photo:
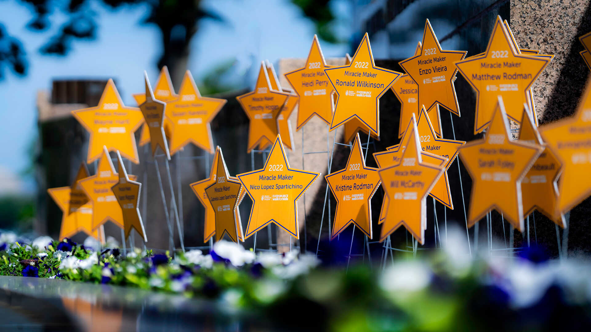
[(400, 61), (400, 66), (418, 85), (417, 112), (424, 105), (430, 110), (435, 104), (460, 115), (456, 89), (453, 86), (457, 68), (455, 61), (462, 60), (466, 51), (441, 50), (431, 23), (427, 19), (423, 32), (421, 54)]

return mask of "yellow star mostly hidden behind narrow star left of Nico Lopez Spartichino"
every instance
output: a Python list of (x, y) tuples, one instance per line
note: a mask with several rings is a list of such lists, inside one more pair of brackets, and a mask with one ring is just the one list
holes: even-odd
[[(191, 189), (193, 189), (193, 193), (195, 194), (195, 196), (197, 196), (197, 199), (199, 199), (199, 201), (201, 202), (201, 204), (203, 205), (204, 209), (205, 209), (205, 216), (204, 216), (204, 227), (203, 227), (203, 243), (206, 243), (207, 241), (209, 241), (209, 238), (212, 237), (213, 235), (215, 235), (216, 233), (216, 214), (215, 211), (213, 211), (213, 206), (211, 203), (209, 203), (209, 199), (207, 198), (207, 194), (205, 193), (205, 190), (207, 187), (209, 187), (210, 185), (216, 183), (216, 178), (217, 178), (217, 163), (219, 162), (219, 151), (220, 148), (216, 147), (216, 152), (215, 155), (213, 156), (213, 162), (212, 162), (212, 167), (210, 168), (209, 171), (209, 178), (203, 179), (201, 181), (197, 181), (194, 183), (191, 183)], [(231, 180), (236, 180), (238, 181), (238, 178), (235, 177), (230, 177)], [(236, 209), (235, 209), (235, 217), (236, 220), (238, 220), (238, 226), (239, 226), (239, 232), (238, 232), (238, 239), (241, 240), (242, 242), (244, 242), (244, 239), (242, 237), (242, 223), (240, 222), (240, 210), (238, 208), (238, 206), (240, 205), (242, 198), (244, 198), (244, 196), (246, 195), (246, 190), (244, 190), (244, 188), (242, 187), (240, 190), (240, 196), (238, 197), (238, 204), (236, 204)]]

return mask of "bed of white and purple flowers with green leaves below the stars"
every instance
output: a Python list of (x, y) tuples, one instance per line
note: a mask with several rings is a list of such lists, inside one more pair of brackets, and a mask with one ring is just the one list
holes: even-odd
[(417, 259), (397, 255), (383, 270), (352, 264), (347, 271), (313, 255), (255, 255), (230, 242), (216, 243), (211, 255), (191, 250), (174, 258), (139, 249), (124, 257), (121, 249), (95, 245), (0, 237), (0, 274), (174, 292), (298, 329), (578, 330), (591, 324), (590, 263), (547, 261), (535, 250), (472, 260), (448, 246)]

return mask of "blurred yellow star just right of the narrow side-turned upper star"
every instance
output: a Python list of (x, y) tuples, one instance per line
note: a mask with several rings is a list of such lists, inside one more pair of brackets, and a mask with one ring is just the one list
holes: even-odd
[(170, 139), (170, 154), (176, 154), (189, 143), (213, 153), (210, 123), (226, 102), (226, 99), (202, 97), (187, 70), (178, 90), (178, 99), (167, 103), (166, 115), (174, 133)]

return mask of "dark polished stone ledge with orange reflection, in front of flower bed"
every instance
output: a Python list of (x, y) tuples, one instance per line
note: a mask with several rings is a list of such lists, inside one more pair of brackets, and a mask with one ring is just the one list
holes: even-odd
[(223, 302), (136, 288), (0, 276), (0, 331), (265, 331)]

